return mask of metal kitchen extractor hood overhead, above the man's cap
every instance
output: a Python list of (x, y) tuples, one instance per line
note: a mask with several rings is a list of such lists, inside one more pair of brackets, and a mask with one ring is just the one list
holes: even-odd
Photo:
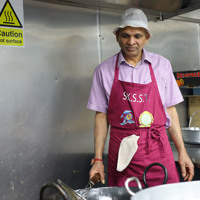
[(149, 20), (164, 20), (200, 8), (199, 0), (36, 0), (90, 9), (123, 12), (141, 8)]

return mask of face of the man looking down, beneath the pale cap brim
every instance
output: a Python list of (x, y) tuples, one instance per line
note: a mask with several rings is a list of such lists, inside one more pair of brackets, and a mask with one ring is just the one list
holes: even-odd
[(142, 48), (150, 35), (144, 28), (125, 27), (119, 29), (116, 38), (125, 59), (137, 58), (142, 55)]

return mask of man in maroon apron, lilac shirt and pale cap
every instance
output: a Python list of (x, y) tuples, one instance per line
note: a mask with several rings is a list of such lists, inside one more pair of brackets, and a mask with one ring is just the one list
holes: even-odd
[[(142, 182), (145, 168), (154, 162), (166, 167), (167, 183), (179, 182), (166, 129), (179, 153), (182, 176), (191, 181), (194, 166), (184, 146), (175, 108), (183, 97), (170, 62), (144, 49), (151, 36), (145, 14), (140, 9), (126, 10), (113, 33), (121, 51), (96, 68), (88, 101), (88, 108), (96, 111), (90, 179), (99, 173), (105, 183), (102, 156), (110, 125), (109, 186), (124, 186), (131, 176)], [(150, 186), (161, 184), (163, 179), (159, 167), (148, 172)]]

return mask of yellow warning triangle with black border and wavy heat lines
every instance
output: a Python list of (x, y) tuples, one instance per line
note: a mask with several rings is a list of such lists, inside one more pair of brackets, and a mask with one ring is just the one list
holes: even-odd
[(22, 28), (22, 24), (20, 23), (12, 5), (9, 0), (4, 4), (3, 9), (0, 13), (0, 26), (8, 26), (8, 27), (20, 27)]

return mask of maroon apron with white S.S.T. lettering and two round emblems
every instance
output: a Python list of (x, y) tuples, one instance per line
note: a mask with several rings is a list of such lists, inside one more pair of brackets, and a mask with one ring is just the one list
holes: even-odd
[[(108, 121), (111, 126), (108, 185), (124, 186), (127, 178), (136, 176), (144, 186), (142, 181), (144, 170), (153, 162), (159, 162), (167, 168), (167, 183), (179, 182), (165, 128), (166, 114), (152, 66), (149, 64), (152, 80), (149, 84), (120, 81), (118, 57), (108, 106)], [(133, 134), (140, 136), (137, 142), (138, 149), (128, 167), (119, 172), (116, 168), (120, 143), (123, 138)], [(152, 167), (146, 179), (149, 186), (161, 184), (164, 180), (163, 169), (160, 166)], [(136, 186), (136, 183), (132, 182), (130, 186)]]

